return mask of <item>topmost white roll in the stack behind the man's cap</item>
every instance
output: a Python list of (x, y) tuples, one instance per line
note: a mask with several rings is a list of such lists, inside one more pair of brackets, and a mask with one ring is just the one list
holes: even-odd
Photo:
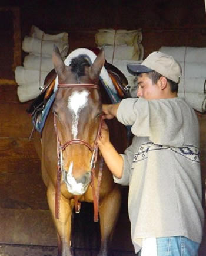
[(206, 47), (169, 47), (162, 46), (160, 48), (162, 53), (167, 53), (174, 57), (178, 62), (206, 62)]

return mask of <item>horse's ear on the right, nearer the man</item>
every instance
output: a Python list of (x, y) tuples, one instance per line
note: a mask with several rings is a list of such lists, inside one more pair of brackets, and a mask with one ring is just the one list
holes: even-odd
[(101, 72), (102, 67), (104, 66), (104, 63), (105, 63), (104, 50), (101, 49), (99, 51), (98, 56), (94, 60), (94, 63), (90, 67), (91, 79), (94, 80), (94, 82), (96, 82), (96, 83), (99, 80), (99, 74)]

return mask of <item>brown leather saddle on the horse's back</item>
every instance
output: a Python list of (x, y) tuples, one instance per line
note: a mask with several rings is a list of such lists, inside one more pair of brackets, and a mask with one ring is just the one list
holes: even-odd
[[(117, 90), (119, 101), (121, 101), (121, 99), (129, 98), (130, 95), (129, 95), (128, 81), (127, 81), (127, 78), (124, 76), (124, 74), (119, 69), (117, 69), (117, 67), (113, 66), (112, 64), (109, 64), (107, 61), (105, 62), (105, 68), (107, 69), (109, 77), (111, 78), (112, 83), (115, 86), (115, 89)], [(32, 122), (33, 122), (33, 129), (32, 129), (30, 138), (32, 137), (34, 128), (37, 127), (36, 123), (38, 122), (38, 119), (42, 118), (42, 112), (44, 111), (47, 113), (49, 111), (49, 108), (52, 105), (52, 102), (54, 101), (53, 92), (54, 92), (56, 76), (57, 74), (55, 73), (55, 70), (52, 69), (51, 72), (49, 72), (45, 78), (42, 92), (37, 96), (37, 98), (34, 99), (31, 105), (29, 105), (28, 109), (26, 109), (28, 114), (32, 116)], [(100, 82), (102, 83), (102, 86), (105, 86), (101, 80)], [(50, 99), (49, 108), (46, 109), (46, 103), (49, 101), (49, 99)], [(41, 118), (39, 118), (39, 116), (41, 116)], [(42, 129), (46, 121), (46, 116), (47, 114), (44, 113), (44, 121), (42, 120), (39, 121), (39, 122), (42, 121), (42, 124), (41, 124), (41, 128), (36, 128), (37, 131), (42, 132)]]

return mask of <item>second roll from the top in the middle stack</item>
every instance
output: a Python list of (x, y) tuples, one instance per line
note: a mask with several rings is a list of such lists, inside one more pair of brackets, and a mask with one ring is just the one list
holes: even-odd
[(139, 57), (141, 57), (141, 49), (139, 49), (137, 43), (134, 46), (122, 44), (121, 46), (103, 46), (102, 48), (106, 60), (111, 60), (113, 53), (115, 60), (139, 60)]

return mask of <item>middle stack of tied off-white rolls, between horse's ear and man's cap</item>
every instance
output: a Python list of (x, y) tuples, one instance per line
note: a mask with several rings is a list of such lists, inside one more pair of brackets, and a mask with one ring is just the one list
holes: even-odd
[(101, 29), (95, 34), (95, 43), (103, 48), (106, 60), (117, 67), (127, 77), (131, 89), (135, 86), (134, 76), (127, 70), (127, 64), (141, 63), (144, 48), (139, 30)]

